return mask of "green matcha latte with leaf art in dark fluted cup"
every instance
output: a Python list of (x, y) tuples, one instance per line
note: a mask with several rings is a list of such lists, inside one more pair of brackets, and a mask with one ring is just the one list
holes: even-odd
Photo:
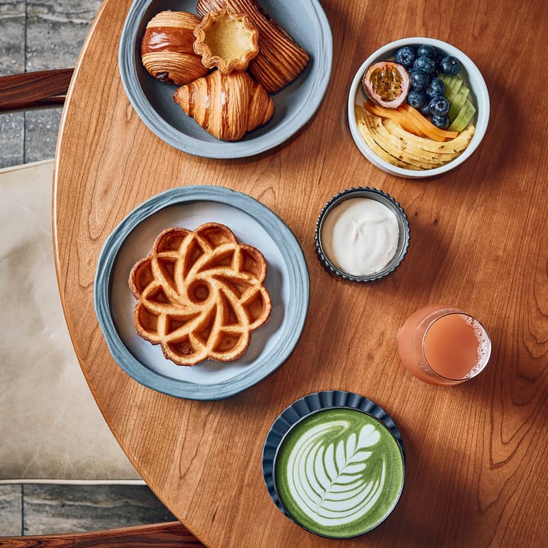
[(308, 532), (351, 538), (394, 510), (405, 449), (394, 421), (360, 395), (329, 390), (292, 403), (263, 450), (266, 487), (279, 510)]

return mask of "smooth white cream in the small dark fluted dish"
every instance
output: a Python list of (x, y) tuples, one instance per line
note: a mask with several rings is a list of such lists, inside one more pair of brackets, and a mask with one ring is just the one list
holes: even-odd
[(398, 247), (395, 213), (369, 198), (352, 198), (333, 208), (321, 231), (323, 251), (341, 271), (367, 276), (382, 271)]

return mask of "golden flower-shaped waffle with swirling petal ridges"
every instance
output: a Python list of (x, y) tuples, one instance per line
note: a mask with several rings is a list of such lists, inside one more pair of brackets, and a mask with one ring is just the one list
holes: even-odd
[(232, 362), (269, 319), (265, 277), (262, 253), (224, 225), (166, 229), (129, 274), (135, 329), (176, 364)]

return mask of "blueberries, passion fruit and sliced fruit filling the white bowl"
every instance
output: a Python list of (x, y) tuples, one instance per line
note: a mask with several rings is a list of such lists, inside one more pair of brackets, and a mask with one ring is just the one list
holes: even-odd
[(476, 109), (459, 75), (460, 62), (430, 45), (406, 46), (372, 64), (362, 77), (367, 101), (356, 121), (380, 158), (407, 169), (454, 160), (475, 132)]

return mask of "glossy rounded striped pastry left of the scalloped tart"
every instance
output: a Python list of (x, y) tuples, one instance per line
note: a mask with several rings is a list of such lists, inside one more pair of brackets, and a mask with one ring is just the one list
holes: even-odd
[(149, 21), (141, 42), (141, 59), (153, 77), (181, 86), (208, 74), (194, 53), (194, 29), (200, 22), (195, 14), (165, 11)]

